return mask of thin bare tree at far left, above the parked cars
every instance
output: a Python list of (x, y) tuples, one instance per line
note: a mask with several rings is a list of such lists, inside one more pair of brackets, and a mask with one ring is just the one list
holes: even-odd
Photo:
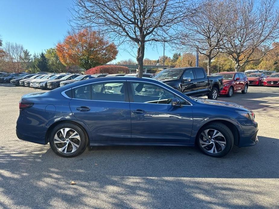
[(4, 46), (5, 57), (8, 65), (14, 72), (22, 69), (21, 59), (23, 55), (23, 45), (17, 43), (6, 42)]

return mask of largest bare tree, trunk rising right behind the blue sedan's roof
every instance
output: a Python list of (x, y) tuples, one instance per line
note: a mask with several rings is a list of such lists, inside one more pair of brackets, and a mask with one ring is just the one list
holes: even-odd
[(145, 44), (174, 42), (182, 37), (182, 22), (196, 11), (193, 0), (74, 0), (74, 22), (99, 27), (119, 44), (137, 47), (139, 77)]

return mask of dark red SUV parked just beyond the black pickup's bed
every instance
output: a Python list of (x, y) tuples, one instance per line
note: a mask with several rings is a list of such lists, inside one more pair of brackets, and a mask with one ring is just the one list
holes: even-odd
[(218, 76), (223, 76), (224, 87), (219, 94), (231, 97), (233, 92), (241, 91), (246, 94), (248, 90), (248, 79), (244, 73), (240, 72), (223, 72), (218, 73)]

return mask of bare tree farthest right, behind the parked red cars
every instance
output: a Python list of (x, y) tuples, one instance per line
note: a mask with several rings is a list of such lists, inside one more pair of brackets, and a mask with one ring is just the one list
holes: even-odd
[(237, 0), (232, 3), (235, 17), (226, 28), (223, 47), (235, 63), (235, 71), (273, 50), (271, 44), (279, 37), (277, 3), (277, 0)]

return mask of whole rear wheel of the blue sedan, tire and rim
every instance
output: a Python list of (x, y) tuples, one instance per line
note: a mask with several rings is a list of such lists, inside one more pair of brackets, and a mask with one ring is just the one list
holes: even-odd
[(72, 158), (83, 153), (88, 139), (86, 133), (79, 126), (73, 123), (60, 123), (52, 129), (49, 144), (59, 156)]

